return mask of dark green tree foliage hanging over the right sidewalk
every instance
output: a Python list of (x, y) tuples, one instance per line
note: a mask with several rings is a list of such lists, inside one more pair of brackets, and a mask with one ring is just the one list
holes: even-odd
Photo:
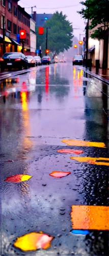
[[(86, 0), (81, 1), (82, 8), (78, 13), (85, 19), (91, 20), (89, 29), (94, 29), (91, 37), (98, 40), (104, 39), (105, 30), (109, 28), (109, 1), (108, 0)], [(96, 26), (99, 27), (96, 28)], [(95, 29), (96, 28), (96, 29)]]

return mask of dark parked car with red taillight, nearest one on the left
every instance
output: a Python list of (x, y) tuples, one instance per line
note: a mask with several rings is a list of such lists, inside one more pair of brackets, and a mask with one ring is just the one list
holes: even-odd
[(28, 69), (28, 60), (25, 55), (20, 52), (6, 52), (0, 58), (1, 71), (4, 69)]

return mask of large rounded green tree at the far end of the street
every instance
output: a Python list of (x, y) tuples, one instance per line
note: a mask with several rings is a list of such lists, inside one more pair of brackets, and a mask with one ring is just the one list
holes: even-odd
[[(63, 15), (62, 12), (59, 13), (56, 11), (56, 13), (52, 15), (52, 18), (45, 23), (45, 27), (50, 27), (50, 29), (48, 29), (47, 48), (53, 56), (72, 47), (73, 28), (72, 24), (66, 18), (67, 16)], [(38, 28), (36, 28), (36, 33), (37, 49), (41, 46), (43, 52), (45, 52), (46, 29), (44, 29), (43, 35), (39, 35)]]

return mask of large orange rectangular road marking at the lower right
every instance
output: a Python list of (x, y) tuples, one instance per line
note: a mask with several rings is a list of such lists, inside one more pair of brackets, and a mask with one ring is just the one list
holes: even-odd
[(93, 205), (72, 205), (73, 229), (109, 229), (109, 207)]

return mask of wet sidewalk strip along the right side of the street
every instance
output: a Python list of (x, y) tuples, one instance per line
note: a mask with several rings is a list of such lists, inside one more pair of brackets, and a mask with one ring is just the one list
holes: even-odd
[(106, 69), (96, 69), (96, 68), (84, 68), (84, 71), (95, 78), (109, 84), (109, 70)]

